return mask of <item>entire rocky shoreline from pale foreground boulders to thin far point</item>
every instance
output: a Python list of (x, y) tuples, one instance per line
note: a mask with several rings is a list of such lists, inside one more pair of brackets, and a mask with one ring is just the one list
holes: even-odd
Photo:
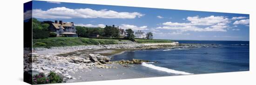
[[(51, 71), (61, 74), (64, 81), (68, 79), (76, 79), (70, 76), (70, 73), (83, 72), (83, 69), (94, 68), (114, 68), (109, 64), (119, 64), (123, 67), (128, 67), (129, 64), (140, 64), (148, 62), (147, 60), (121, 60), (110, 61), (111, 57), (101, 54), (111, 53), (116, 49), (124, 50), (142, 50), (142, 49), (175, 49), (175, 48), (208, 48), (217, 47), (214, 44), (115, 44), (115, 45), (89, 45), (89, 46), (67, 46), (67, 47), (52, 47), (34, 48), (33, 54), (24, 55), (24, 71), (32, 70), (34, 73), (48, 74)], [(118, 53), (120, 53), (118, 51)], [(98, 54), (99, 53), (99, 54)], [(113, 54), (118, 54), (113, 53)], [(33, 64), (31, 64), (33, 62)]]

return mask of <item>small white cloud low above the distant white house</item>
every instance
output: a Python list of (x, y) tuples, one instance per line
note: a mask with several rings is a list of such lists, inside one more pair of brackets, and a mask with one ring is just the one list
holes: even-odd
[(130, 24), (121, 24), (122, 29), (132, 29), (132, 30), (148, 30), (148, 26), (135, 26), (135, 25), (130, 25)]

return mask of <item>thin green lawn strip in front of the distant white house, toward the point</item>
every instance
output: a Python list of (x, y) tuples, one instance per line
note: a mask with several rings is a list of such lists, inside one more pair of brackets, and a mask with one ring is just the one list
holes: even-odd
[(146, 40), (146, 39), (135, 39), (138, 43), (170, 43), (171, 40), (160, 40), (160, 39), (153, 39), (153, 40)]

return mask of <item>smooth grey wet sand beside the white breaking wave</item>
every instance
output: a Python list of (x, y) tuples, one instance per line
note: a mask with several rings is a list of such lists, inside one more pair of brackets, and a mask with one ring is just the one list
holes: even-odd
[[(73, 79), (68, 79), (68, 82), (85, 82), (85, 81), (100, 81), (100, 80), (115, 80), (115, 79), (135, 79), (157, 77), (152, 73), (142, 73), (136, 71), (141, 65), (134, 65), (134, 67), (123, 67), (119, 64), (108, 64), (112, 68), (97, 68), (83, 69), (76, 73), (69, 73)], [(115, 68), (117, 67), (117, 68)]]

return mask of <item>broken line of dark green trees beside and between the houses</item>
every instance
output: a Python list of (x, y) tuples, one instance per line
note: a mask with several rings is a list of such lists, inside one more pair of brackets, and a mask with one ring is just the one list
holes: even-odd
[[(47, 21), (40, 22), (36, 18), (32, 18), (32, 22), (33, 39), (43, 39), (55, 37), (57, 35), (54, 32), (49, 32), (48, 27), (50, 24), (46, 23)], [(120, 30), (118, 27), (115, 27), (115, 25), (106, 25), (104, 28), (75, 26), (75, 29), (79, 37), (91, 37), (95, 35), (99, 35), (101, 37), (120, 37)], [(124, 37), (124, 39), (135, 41), (134, 31), (132, 29), (126, 29), (125, 31), (126, 37)], [(153, 39), (152, 32), (147, 33), (146, 39)]]

